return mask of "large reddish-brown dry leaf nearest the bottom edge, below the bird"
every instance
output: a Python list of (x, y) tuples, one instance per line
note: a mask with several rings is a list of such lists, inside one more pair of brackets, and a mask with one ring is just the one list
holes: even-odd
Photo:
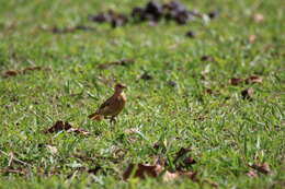
[(130, 177), (145, 179), (146, 177), (158, 177), (162, 172), (160, 165), (130, 164), (123, 174), (124, 180)]

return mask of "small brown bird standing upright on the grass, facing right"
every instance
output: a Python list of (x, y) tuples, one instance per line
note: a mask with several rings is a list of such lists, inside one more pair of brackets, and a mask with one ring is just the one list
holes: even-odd
[(125, 88), (125, 84), (117, 83), (114, 87), (114, 94), (107, 98), (94, 114), (91, 114), (88, 117), (96, 121), (110, 118), (111, 122), (115, 122), (115, 117), (123, 110), (127, 101), (124, 93)]

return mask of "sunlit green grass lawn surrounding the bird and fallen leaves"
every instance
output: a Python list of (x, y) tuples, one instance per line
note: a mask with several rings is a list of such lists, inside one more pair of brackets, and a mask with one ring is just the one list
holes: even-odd
[[(1, 2), (1, 74), (33, 66), (44, 70), (0, 78), (0, 150), (29, 163), (13, 161), (13, 168), (26, 168), (27, 174), (2, 173), (0, 188), (210, 188), (206, 181), (190, 179), (122, 180), (129, 163), (146, 163), (153, 155), (171, 162), (181, 147), (192, 149), (197, 162), (192, 170), (198, 178), (220, 188), (284, 187), (283, 0), (184, 1), (201, 12), (219, 10), (219, 16), (208, 24), (196, 20), (185, 26), (161, 22), (113, 29), (87, 19), (107, 9), (128, 13), (145, 2)], [(255, 23), (254, 13), (263, 14), (264, 21)], [(53, 34), (43, 29), (78, 24), (95, 31)], [(196, 38), (185, 37), (189, 29)], [(249, 35), (256, 36), (253, 44), (248, 43)], [(201, 61), (204, 55), (215, 61)], [(96, 68), (128, 58), (135, 63)], [(140, 80), (145, 71), (153, 79)], [(263, 82), (228, 83), (230, 78), (253, 74), (261, 75)], [(90, 121), (87, 116), (111, 95), (114, 80), (129, 86), (125, 110), (115, 126)], [(178, 86), (169, 86), (170, 80)], [(253, 99), (243, 101), (240, 92), (249, 86), (254, 88)], [(217, 94), (206, 94), (205, 88)], [(91, 135), (43, 133), (56, 120), (69, 121)], [(129, 128), (139, 128), (140, 133), (124, 133)], [(156, 142), (164, 143), (166, 151), (153, 150)], [(46, 144), (58, 152), (50, 154)], [(0, 168), (4, 169), (10, 156), (0, 154)], [(266, 162), (272, 174), (248, 177), (248, 164), (255, 160)], [(77, 166), (102, 169), (92, 175)]]

